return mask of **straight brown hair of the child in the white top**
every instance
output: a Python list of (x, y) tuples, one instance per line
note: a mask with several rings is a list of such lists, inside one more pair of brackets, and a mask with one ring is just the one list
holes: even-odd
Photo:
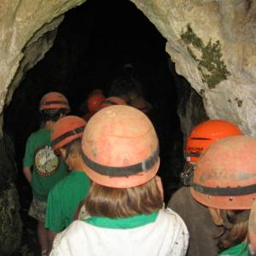
[(155, 178), (129, 189), (108, 188), (92, 183), (85, 200), (90, 216), (126, 218), (160, 210), (163, 200)]

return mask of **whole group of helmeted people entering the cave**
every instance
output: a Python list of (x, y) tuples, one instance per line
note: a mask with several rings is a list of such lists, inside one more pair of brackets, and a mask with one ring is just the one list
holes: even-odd
[(134, 102), (94, 90), (81, 118), (61, 93), (42, 97), (23, 161), (42, 255), (256, 255), (256, 138), (195, 126), (166, 206), (158, 137)]

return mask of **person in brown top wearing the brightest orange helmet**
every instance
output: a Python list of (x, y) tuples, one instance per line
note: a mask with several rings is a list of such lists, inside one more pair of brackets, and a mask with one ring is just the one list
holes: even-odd
[(183, 218), (188, 227), (190, 235), (188, 256), (216, 256), (218, 241), (215, 238), (224, 231), (222, 226), (217, 226), (212, 222), (208, 208), (195, 201), (190, 194), (195, 165), (200, 155), (212, 143), (223, 137), (241, 134), (241, 130), (233, 123), (222, 119), (212, 119), (196, 125), (189, 135), (185, 147), (187, 163), (181, 174), (184, 187), (172, 195), (167, 205)]

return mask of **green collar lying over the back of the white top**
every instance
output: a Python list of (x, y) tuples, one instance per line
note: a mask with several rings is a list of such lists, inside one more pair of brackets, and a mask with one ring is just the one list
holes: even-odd
[(93, 216), (85, 218), (84, 222), (107, 229), (128, 230), (141, 227), (145, 224), (153, 223), (157, 218), (159, 212), (152, 212), (150, 214), (140, 214), (128, 218), (106, 218)]

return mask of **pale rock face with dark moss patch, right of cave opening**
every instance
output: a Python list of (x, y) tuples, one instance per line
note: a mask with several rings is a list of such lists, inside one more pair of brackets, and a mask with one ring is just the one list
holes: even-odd
[(133, 0), (168, 40), (166, 51), (207, 115), (256, 135), (256, 1)]

